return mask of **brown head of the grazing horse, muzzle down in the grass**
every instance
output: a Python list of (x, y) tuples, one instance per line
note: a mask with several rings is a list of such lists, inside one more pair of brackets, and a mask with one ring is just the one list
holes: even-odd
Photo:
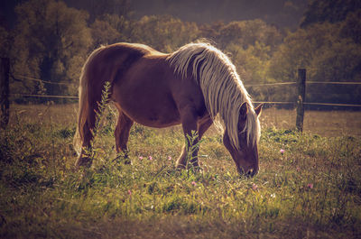
[[(247, 129), (246, 120), (248, 114), (255, 114), (254, 120), (258, 121), (258, 117), (261, 115), (262, 106), (257, 106), (255, 112), (251, 112), (250, 106), (244, 103), (239, 112), (238, 119), (238, 142), (239, 146), (235, 147), (230, 140), (230, 136), (227, 133), (227, 129), (223, 136), (223, 143), (225, 144), (228, 152), (230, 152), (233, 160), (236, 162), (237, 170), (240, 174), (245, 176), (254, 176), (259, 169), (258, 166), (258, 149), (257, 141), (250, 142), (249, 133), (250, 129)], [(251, 119), (250, 119), (251, 120)], [(255, 122), (254, 125), (257, 125)]]

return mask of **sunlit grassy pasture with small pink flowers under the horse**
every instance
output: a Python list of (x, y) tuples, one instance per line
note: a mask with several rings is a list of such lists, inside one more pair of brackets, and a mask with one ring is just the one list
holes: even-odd
[(111, 111), (93, 167), (76, 171), (76, 107), (12, 106), (0, 133), (0, 237), (361, 237), (360, 112), (306, 112), (297, 133), (295, 112), (266, 109), (261, 169), (245, 179), (214, 129), (201, 171), (174, 169), (180, 127), (135, 124), (124, 164)]

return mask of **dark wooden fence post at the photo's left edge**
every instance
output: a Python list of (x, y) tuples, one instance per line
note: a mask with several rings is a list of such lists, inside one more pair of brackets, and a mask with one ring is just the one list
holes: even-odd
[(10, 60), (0, 58), (0, 127), (3, 129), (9, 123), (9, 71)]

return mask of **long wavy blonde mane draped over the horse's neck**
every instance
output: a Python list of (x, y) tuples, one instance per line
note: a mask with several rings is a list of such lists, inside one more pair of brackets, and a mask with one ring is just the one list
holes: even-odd
[(173, 52), (167, 59), (176, 73), (187, 77), (192, 68), (195, 78), (203, 92), (209, 115), (218, 129), (227, 129), (232, 144), (239, 149), (238, 117), (240, 107), (248, 104), (245, 121), (247, 143), (255, 145), (261, 135), (261, 127), (254, 106), (240, 80), (236, 67), (227, 55), (209, 43), (190, 43)]

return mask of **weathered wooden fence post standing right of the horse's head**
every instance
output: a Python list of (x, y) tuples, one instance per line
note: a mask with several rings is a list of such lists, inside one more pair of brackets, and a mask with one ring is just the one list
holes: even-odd
[(304, 101), (306, 97), (306, 69), (299, 69), (298, 78), (298, 97), (297, 97), (297, 118), (296, 127), (297, 130), (302, 132), (303, 130), (303, 116), (304, 116)]

